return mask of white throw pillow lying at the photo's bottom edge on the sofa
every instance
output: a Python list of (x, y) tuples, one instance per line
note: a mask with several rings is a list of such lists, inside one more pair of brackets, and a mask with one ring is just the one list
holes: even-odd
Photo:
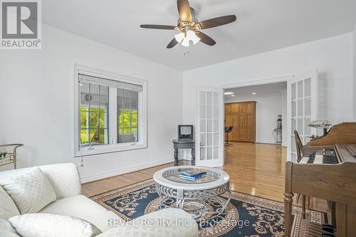
[(22, 237), (91, 237), (93, 228), (87, 221), (55, 214), (24, 214), (9, 218)]

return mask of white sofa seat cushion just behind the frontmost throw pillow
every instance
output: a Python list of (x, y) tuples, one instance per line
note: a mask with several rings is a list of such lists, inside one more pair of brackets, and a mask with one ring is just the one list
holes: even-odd
[(121, 219), (112, 211), (100, 206), (95, 201), (88, 199), (86, 196), (70, 196), (68, 198), (59, 199), (52, 204), (49, 204), (40, 213), (50, 213), (58, 215), (73, 216), (81, 218), (84, 221), (93, 223), (100, 231), (108, 231), (112, 226), (108, 222), (112, 219)]

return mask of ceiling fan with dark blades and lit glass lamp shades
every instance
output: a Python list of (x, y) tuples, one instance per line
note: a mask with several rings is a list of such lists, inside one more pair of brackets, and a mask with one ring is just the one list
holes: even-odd
[(174, 30), (180, 31), (174, 36), (171, 42), (167, 45), (167, 48), (173, 48), (177, 43), (181, 43), (182, 46), (190, 46), (190, 41), (194, 44), (199, 41), (207, 44), (208, 46), (214, 46), (216, 42), (206, 36), (205, 33), (201, 32), (206, 28), (213, 28), (216, 26), (222, 26), (227, 23), (236, 21), (235, 15), (220, 16), (214, 19), (209, 19), (206, 21), (198, 21), (194, 17), (194, 9), (189, 6), (188, 0), (177, 0), (179, 20), (177, 26), (164, 26), (164, 25), (141, 25), (141, 28), (152, 28), (161, 30)]

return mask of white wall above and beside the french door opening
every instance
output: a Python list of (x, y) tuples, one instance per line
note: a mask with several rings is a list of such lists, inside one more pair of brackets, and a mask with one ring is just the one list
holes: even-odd
[(195, 124), (197, 86), (217, 87), (315, 69), (319, 71), (319, 118), (333, 124), (352, 120), (352, 33), (184, 72), (183, 120)]

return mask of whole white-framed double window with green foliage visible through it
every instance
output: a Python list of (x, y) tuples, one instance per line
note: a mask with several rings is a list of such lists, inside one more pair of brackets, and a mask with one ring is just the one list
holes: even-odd
[(75, 156), (147, 147), (146, 80), (75, 66)]

